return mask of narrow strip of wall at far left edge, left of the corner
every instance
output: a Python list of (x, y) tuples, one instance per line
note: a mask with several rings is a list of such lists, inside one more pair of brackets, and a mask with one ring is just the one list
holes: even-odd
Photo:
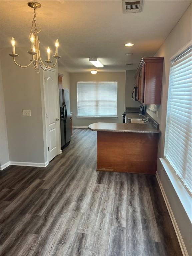
[(7, 124), (5, 116), (5, 102), (0, 60), (0, 166), (3, 168), (3, 165), (5, 165), (6, 163), (9, 164), (9, 149), (7, 140)]

